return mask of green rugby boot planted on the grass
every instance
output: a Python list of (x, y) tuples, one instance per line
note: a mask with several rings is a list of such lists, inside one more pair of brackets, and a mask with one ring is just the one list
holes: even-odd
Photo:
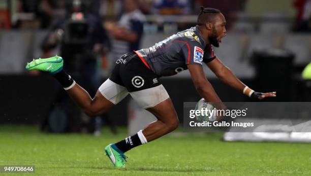
[(111, 160), (112, 164), (118, 169), (125, 169), (125, 161), (128, 158), (114, 144), (105, 147), (105, 153)]

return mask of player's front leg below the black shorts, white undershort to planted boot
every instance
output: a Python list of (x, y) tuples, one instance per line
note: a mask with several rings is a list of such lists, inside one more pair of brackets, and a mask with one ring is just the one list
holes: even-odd
[(144, 130), (140, 130), (138, 133), (105, 148), (106, 154), (118, 168), (125, 167), (125, 152), (173, 131), (179, 124), (172, 101), (162, 84), (157, 87), (130, 92), (130, 94), (158, 120), (150, 123)]

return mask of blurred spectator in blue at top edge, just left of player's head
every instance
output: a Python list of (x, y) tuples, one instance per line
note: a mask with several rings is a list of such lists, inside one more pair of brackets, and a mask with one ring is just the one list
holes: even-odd
[(187, 15), (191, 13), (188, 0), (155, 0), (151, 12), (154, 15)]

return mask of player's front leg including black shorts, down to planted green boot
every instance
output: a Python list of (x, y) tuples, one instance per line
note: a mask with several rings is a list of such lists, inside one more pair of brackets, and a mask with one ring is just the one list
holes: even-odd
[(136, 54), (121, 57), (117, 65), (120, 65), (121, 82), (133, 99), (158, 118), (158, 121), (151, 123), (144, 131), (140, 130), (105, 148), (114, 166), (124, 168), (125, 152), (174, 130), (178, 126), (178, 119), (169, 95), (158, 80), (158, 76), (147, 68)]

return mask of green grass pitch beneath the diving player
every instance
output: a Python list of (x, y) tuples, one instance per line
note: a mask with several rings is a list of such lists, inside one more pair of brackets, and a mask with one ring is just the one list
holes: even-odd
[(167, 135), (129, 151), (127, 170), (116, 170), (103, 148), (125, 137), (121, 131), (96, 137), (0, 126), (0, 165), (35, 165), (24, 175), (311, 175), (310, 144), (229, 143), (221, 133)]

